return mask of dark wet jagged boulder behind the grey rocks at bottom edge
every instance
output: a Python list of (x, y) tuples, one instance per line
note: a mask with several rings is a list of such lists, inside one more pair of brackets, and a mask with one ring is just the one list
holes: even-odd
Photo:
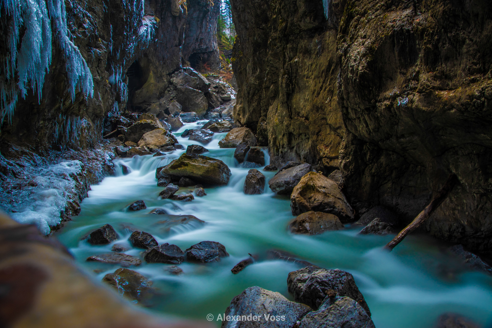
[(355, 284), (354, 277), (339, 269), (306, 267), (292, 271), (287, 276), (287, 288), (294, 300), (317, 310), (327, 297), (326, 291), (334, 290), (337, 296), (355, 299), (370, 316), (369, 306)]

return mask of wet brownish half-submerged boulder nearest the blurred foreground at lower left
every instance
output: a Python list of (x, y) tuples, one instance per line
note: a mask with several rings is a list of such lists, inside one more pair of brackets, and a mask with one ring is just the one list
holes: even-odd
[(102, 281), (114, 287), (121, 296), (137, 301), (152, 290), (152, 282), (137, 271), (127, 268), (119, 268), (114, 273), (106, 274)]

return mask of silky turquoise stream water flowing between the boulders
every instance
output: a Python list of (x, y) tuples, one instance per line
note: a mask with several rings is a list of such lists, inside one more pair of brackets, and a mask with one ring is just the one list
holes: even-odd
[[(196, 128), (205, 121), (185, 124), (175, 135), (179, 143), (196, 144), (181, 138), (186, 128)], [(165, 271), (169, 265), (146, 264), (131, 268), (153, 281), (156, 295), (149, 307), (160, 313), (188, 319), (205, 320), (211, 313), (215, 319), (224, 313), (231, 299), (250, 286), (276, 291), (292, 300), (287, 292), (287, 274), (301, 265), (282, 260), (259, 260), (238, 274), (231, 268), (251, 254), (266, 254), (278, 249), (289, 252), (322, 268), (339, 268), (354, 276), (364, 295), (372, 320), (377, 328), (431, 328), (437, 317), (454, 312), (473, 319), (480, 325), (490, 325), (492, 318), (492, 278), (467, 270), (458, 260), (445, 252), (446, 245), (423, 236), (409, 236), (391, 253), (383, 251), (393, 236), (361, 236), (359, 229), (347, 228), (317, 236), (293, 235), (287, 225), (293, 216), (287, 196), (278, 196), (268, 188), (268, 179), (275, 172), (263, 172), (267, 179), (265, 193), (245, 195), (243, 184), (248, 168), (239, 168), (233, 157), (234, 149), (220, 149), (218, 141), (225, 133), (216, 133), (214, 140), (204, 145), (206, 156), (222, 160), (231, 169), (227, 186), (206, 187), (207, 195), (192, 202), (160, 200), (163, 189), (156, 186), (155, 169), (178, 158), (185, 150), (165, 156), (135, 156), (115, 160), (117, 173), (101, 183), (92, 185), (89, 197), (82, 202), (82, 211), (68, 222), (58, 238), (68, 247), (83, 268), (95, 280), (120, 266), (86, 262), (87, 257), (109, 253), (114, 243), (129, 246), (131, 229), (145, 231), (159, 244), (168, 242), (185, 250), (189, 246), (212, 240), (223, 244), (229, 257), (212, 264), (183, 263), (181, 275)], [(266, 151), (265, 151), (266, 153)], [(266, 161), (268, 164), (268, 154)], [(123, 175), (121, 165), (130, 169)], [(192, 190), (181, 188), (177, 194)], [(130, 203), (144, 200), (147, 209), (126, 210)], [(163, 208), (169, 214), (191, 214), (206, 222), (174, 225), (165, 224), (166, 215), (148, 214)], [(120, 239), (105, 246), (91, 246), (81, 240), (104, 224), (111, 224)], [(126, 254), (140, 257), (141, 249)], [(94, 272), (99, 272), (95, 273)], [(216, 325), (220, 325), (220, 321)]]

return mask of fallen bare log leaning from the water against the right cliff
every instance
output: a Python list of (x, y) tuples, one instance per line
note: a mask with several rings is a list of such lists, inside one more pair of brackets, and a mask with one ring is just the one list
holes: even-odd
[(455, 174), (450, 174), (446, 183), (442, 186), (442, 189), (432, 197), (431, 203), (417, 215), (413, 221), (405, 227), (405, 229), (401, 230), (400, 233), (391, 240), (384, 248), (388, 249), (390, 252), (398, 245), (401, 240), (403, 240), (406, 235), (417, 229), (424, 223), (432, 214), (432, 212), (441, 205), (441, 203), (448, 197), (451, 190), (455, 186), (456, 182), (458, 182), (458, 178)]

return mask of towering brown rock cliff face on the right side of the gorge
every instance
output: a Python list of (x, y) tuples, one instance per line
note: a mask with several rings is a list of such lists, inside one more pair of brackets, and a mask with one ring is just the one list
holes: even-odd
[(492, 249), (491, 3), (307, 2), (234, 1), (235, 118), (279, 162), (342, 170), (360, 213), (406, 223), (455, 173), (426, 229)]

